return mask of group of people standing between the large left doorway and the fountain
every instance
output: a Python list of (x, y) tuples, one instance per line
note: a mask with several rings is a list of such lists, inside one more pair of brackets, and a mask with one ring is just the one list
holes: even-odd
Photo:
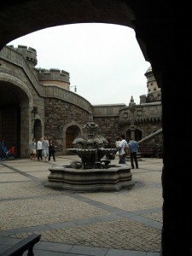
[(55, 160), (55, 145), (53, 140), (48, 139), (47, 136), (39, 137), (38, 142), (33, 138), (31, 145), (31, 160), (43, 160), (47, 162), (51, 156)]

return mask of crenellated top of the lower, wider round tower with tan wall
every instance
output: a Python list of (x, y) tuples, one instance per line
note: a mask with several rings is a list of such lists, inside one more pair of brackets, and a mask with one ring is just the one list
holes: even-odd
[(61, 81), (69, 84), (69, 73), (57, 68), (35, 68), (39, 81)]

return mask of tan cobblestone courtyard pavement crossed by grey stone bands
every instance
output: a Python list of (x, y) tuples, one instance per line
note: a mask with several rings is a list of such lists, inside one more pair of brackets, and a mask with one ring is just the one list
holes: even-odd
[(50, 166), (73, 160), (79, 157), (0, 162), (0, 253), (35, 233), (41, 235), (35, 255), (160, 255), (162, 159), (139, 160), (131, 189), (73, 193), (44, 187)]

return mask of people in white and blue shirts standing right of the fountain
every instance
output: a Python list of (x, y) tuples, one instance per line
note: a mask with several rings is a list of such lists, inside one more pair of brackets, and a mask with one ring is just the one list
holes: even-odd
[[(125, 140), (125, 135), (117, 137), (115, 146), (117, 148), (117, 154), (119, 155), (119, 164), (126, 163), (126, 155), (130, 155), (131, 168), (135, 167), (138, 169), (137, 151), (139, 144), (133, 139), (129, 139), (128, 142)], [(135, 165), (134, 165), (135, 163)]]

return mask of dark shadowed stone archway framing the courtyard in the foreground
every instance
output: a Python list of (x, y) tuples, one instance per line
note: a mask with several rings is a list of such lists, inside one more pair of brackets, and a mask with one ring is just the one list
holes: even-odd
[(0, 49), (15, 38), (49, 26), (100, 22), (134, 28), (162, 93), (163, 256), (191, 256), (192, 247), (189, 4), (187, 0), (180, 4), (160, 0), (15, 0), (3, 1), (0, 9)]

